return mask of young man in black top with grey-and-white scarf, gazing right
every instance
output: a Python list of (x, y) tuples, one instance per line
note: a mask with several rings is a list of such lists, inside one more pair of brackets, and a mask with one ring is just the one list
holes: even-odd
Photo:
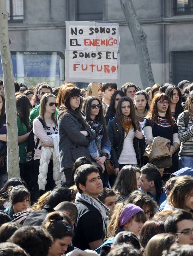
[(74, 181), (78, 189), (75, 201), (78, 217), (73, 245), (81, 250), (94, 250), (103, 243), (109, 223), (109, 208), (97, 198), (103, 191), (103, 183), (98, 169), (91, 164), (78, 167)]

